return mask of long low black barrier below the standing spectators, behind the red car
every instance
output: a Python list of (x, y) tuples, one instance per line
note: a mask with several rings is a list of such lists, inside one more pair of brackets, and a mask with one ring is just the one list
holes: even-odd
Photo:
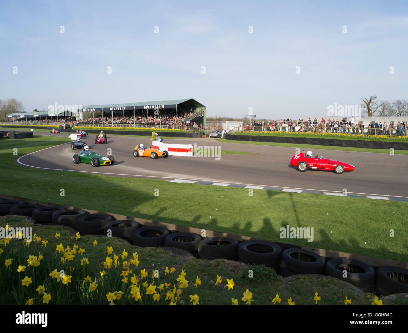
[(261, 135), (234, 135), (228, 134), (227, 140), (295, 143), (298, 145), (321, 145), (333, 147), (357, 147), (370, 149), (398, 149), (408, 150), (408, 142), (369, 141), (369, 140), (339, 140), (324, 138), (294, 138), (290, 136), (261, 136)]

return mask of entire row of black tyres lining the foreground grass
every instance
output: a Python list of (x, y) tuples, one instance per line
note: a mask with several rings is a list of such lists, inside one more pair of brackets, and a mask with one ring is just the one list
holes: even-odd
[[(229, 237), (203, 238), (191, 232), (171, 232), (159, 226), (143, 226), (133, 220), (115, 220), (111, 215), (90, 214), (82, 209), (63, 206), (27, 204), (22, 200), (1, 200), (1, 215), (31, 217), (36, 223), (53, 223), (76, 228), (81, 234), (118, 237), (139, 247), (170, 247), (190, 252), (200, 259), (239, 260), (250, 265), (265, 265), (283, 277), (297, 274), (325, 274), (351, 283), (362, 291), (376, 291), (378, 296), (408, 293), (408, 269), (372, 266), (351, 258), (327, 262), (319, 254), (302, 248), (287, 248), (284, 243), (251, 239), (238, 241)], [(283, 250), (284, 248), (284, 250)]]

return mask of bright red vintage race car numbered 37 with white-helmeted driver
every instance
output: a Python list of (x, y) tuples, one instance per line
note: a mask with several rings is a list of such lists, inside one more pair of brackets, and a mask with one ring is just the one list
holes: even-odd
[(296, 169), (299, 171), (306, 171), (307, 169), (330, 170), (340, 174), (344, 171), (354, 170), (354, 165), (348, 163), (330, 160), (328, 158), (323, 158), (323, 156), (313, 157), (313, 153), (310, 150), (307, 153), (303, 151), (303, 153), (293, 156), (290, 160), (290, 164), (296, 166)]

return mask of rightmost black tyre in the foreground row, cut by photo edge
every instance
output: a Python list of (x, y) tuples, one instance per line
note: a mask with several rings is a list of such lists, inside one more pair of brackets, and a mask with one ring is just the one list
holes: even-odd
[(394, 266), (383, 266), (377, 268), (377, 275), (375, 279), (375, 287), (377, 292), (384, 291), (386, 294), (408, 293), (408, 284), (393, 280), (388, 276), (388, 273), (404, 274), (406, 281), (408, 281), (408, 269)]

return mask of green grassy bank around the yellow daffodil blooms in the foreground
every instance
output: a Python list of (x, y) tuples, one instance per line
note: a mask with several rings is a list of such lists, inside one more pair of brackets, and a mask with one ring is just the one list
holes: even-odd
[[(75, 232), (64, 230), (62, 226), (31, 224), (21, 217), (0, 217), (0, 227), (5, 227), (8, 223), (9, 227), (32, 227), (33, 234), (37, 234), (41, 241), (48, 241), (47, 247), (41, 242), (33, 241), (29, 246), (24, 246), (21, 241), (12, 239), (7, 245), (0, 245), (3, 252), (0, 254), (0, 261), (3, 265), (0, 270), (0, 285), (7, 287), (7, 293), (0, 294), (0, 303), (2, 305), (24, 305), (28, 298), (33, 298), (35, 305), (42, 304), (43, 294), (38, 294), (35, 290), (38, 285), (43, 285), (47, 294), (51, 294), (50, 305), (82, 305), (82, 304), (98, 304), (107, 305), (109, 302), (106, 299), (106, 294), (114, 291), (123, 291), (124, 294), (120, 300), (115, 300), (114, 304), (169, 304), (165, 300), (164, 291), (158, 289), (161, 283), (171, 283), (171, 289), (174, 286), (178, 288), (177, 277), (181, 274), (182, 269), (186, 273), (188, 287), (183, 290), (181, 300), (184, 304), (190, 304), (189, 295), (197, 294), (200, 297), (200, 305), (230, 305), (231, 298), (237, 299), (239, 305), (244, 305), (241, 300), (246, 289), (253, 294), (253, 302), (251, 305), (272, 305), (272, 299), (277, 293), (282, 299), (276, 305), (287, 304), (287, 299), (292, 298), (295, 305), (315, 305), (315, 292), (321, 297), (317, 305), (344, 305), (345, 296), (352, 300), (352, 305), (371, 305), (375, 293), (370, 291), (365, 294), (359, 294), (354, 290), (350, 290), (337, 279), (319, 279), (319, 278), (302, 278), (286, 282), (284, 278), (275, 274), (275, 272), (265, 266), (250, 266), (235, 261), (227, 261), (217, 259), (213, 261), (199, 260), (196, 258), (184, 259), (178, 255), (165, 251), (162, 248), (138, 248), (134, 245), (123, 243), (115, 237), (95, 237), (81, 236), (76, 239)], [(57, 239), (56, 233), (60, 234)], [(93, 241), (98, 243), (94, 246)], [(85, 252), (81, 255), (75, 253), (72, 261), (61, 263), (62, 254), (55, 251), (56, 246), (62, 245), (73, 248), (78, 245), (78, 249), (84, 249)], [(106, 256), (113, 259), (113, 254), (106, 253), (107, 247), (113, 248), (113, 253), (119, 256), (119, 265), (112, 265), (110, 269), (103, 268), (101, 263), (106, 260)], [(14, 250), (16, 250), (14, 252)], [(127, 256), (122, 259), (120, 254), (126, 250)], [(44, 256), (37, 267), (27, 264), (28, 255), (38, 256), (39, 252)], [(130, 261), (133, 253), (137, 252), (138, 261), (137, 267), (133, 264), (129, 269), (132, 272), (129, 274), (129, 281), (125, 284), (121, 281), (123, 276), (122, 262)], [(81, 259), (87, 258), (89, 264), (81, 265)], [(4, 266), (5, 259), (13, 259), (9, 267)], [(25, 265), (24, 272), (17, 272), (19, 265)], [(175, 267), (176, 271), (172, 274), (165, 273), (168, 267)], [(49, 276), (54, 269), (57, 272), (64, 270), (65, 274), (71, 276), (71, 283), (63, 285), (57, 282), (55, 278)], [(100, 277), (100, 272), (104, 269), (105, 275)], [(143, 297), (142, 302), (135, 303), (133, 299), (128, 300), (129, 287), (131, 285), (130, 276), (141, 278), (140, 270), (145, 269), (148, 276), (138, 282)], [(151, 277), (153, 270), (157, 269), (158, 277), (154, 280)], [(248, 277), (248, 271), (253, 271), (253, 277)], [(217, 275), (222, 278), (222, 283), (215, 285)], [(32, 278), (30, 285), (22, 286), (21, 280), (24, 276)], [(90, 276), (92, 280), (98, 283), (98, 287), (92, 293), (89, 291), (89, 283), (84, 282), (84, 278)], [(194, 287), (197, 276), (201, 280), (201, 284)], [(101, 280), (98, 280), (101, 278)], [(234, 287), (228, 290), (225, 288), (227, 279), (233, 279)], [(159, 302), (153, 301), (153, 295), (146, 295), (145, 288), (142, 283), (147, 281), (148, 284), (156, 285), (156, 291), (161, 294)], [(182, 289), (182, 288), (181, 288)], [(89, 297), (90, 294), (92, 297)], [(381, 299), (381, 298), (380, 298)], [(179, 302), (180, 303), (180, 302)], [(399, 297), (395, 300), (383, 300), (384, 305), (408, 305), (407, 299)]]

